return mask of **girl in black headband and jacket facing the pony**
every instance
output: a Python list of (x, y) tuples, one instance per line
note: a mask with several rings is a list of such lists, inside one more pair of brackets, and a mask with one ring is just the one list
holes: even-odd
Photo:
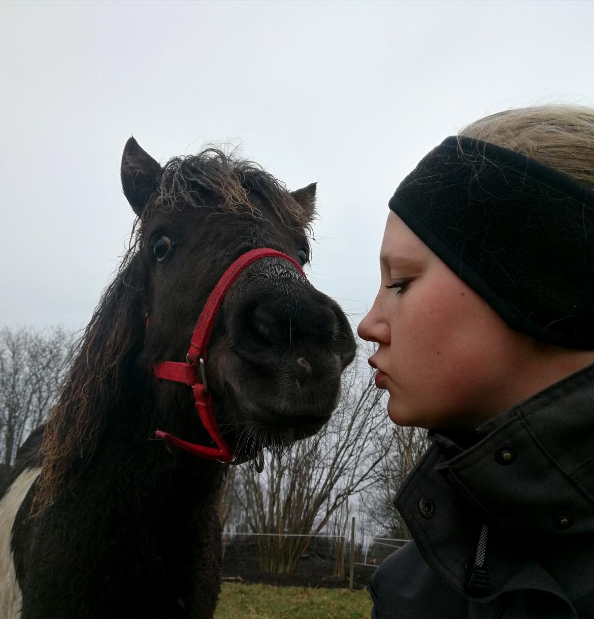
[(372, 618), (592, 619), (594, 110), (470, 124), (389, 207), (359, 335), (390, 419), (433, 442)]

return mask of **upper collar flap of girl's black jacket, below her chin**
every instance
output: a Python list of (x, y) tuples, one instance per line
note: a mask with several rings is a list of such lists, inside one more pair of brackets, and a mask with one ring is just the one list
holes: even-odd
[[(477, 430), (478, 441), (437, 470), (510, 532), (594, 532), (594, 365)], [(451, 440), (435, 435), (445, 457)]]

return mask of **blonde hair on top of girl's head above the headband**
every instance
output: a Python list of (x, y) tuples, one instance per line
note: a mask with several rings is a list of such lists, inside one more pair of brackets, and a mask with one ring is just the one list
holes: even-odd
[(516, 108), (485, 116), (458, 134), (527, 155), (594, 188), (593, 108)]

